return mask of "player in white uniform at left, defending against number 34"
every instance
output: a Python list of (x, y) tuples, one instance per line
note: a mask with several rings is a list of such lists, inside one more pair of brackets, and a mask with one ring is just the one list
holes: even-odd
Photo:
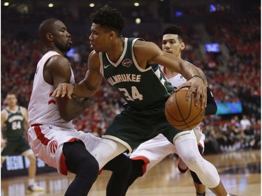
[(59, 83), (75, 82), (64, 57), (71, 49), (71, 35), (57, 19), (43, 21), (38, 33), (46, 53), (38, 62), (29, 102), (29, 144), (38, 158), (59, 173), (76, 174), (66, 196), (87, 195), (99, 173), (99, 164), (89, 151), (100, 138), (75, 130), (71, 120), (85, 111), (89, 100), (51, 97)]

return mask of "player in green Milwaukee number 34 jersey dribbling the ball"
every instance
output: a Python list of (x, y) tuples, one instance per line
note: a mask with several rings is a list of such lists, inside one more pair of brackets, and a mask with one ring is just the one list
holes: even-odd
[[(170, 126), (165, 116), (165, 103), (173, 86), (166, 81), (158, 64), (188, 81), (177, 91), (189, 86), (187, 98), (196, 91), (196, 105), (200, 98), (201, 107), (206, 105), (206, 86), (198, 70), (187, 61), (163, 52), (156, 44), (139, 38), (124, 38), (124, 19), (116, 9), (104, 6), (91, 15), (93, 21), (90, 44), (94, 50), (89, 54), (88, 70), (79, 84), (61, 83), (52, 96), (91, 97), (99, 88), (103, 77), (126, 100), (121, 114), (115, 116), (92, 155), (98, 160), (99, 168), (124, 151), (131, 153), (139, 144), (162, 133), (171, 143), (189, 169), (216, 195), (226, 196), (217, 169), (198, 152), (196, 136), (191, 130), (177, 130)], [(149, 62), (154, 62), (150, 64)], [(189, 153), (190, 152), (190, 153)], [(209, 167), (207, 174), (206, 169)]]

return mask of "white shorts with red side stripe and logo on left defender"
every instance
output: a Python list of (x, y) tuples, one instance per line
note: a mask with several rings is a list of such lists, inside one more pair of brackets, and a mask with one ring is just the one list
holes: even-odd
[(57, 171), (66, 175), (66, 163), (62, 151), (65, 142), (80, 140), (87, 151), (92, 151), (101, 140), (91, 133), (84, 133), (74, 128), (61, 128), (53, 125), (32, 126), (28, 130), (28, 141), (35, 155)]

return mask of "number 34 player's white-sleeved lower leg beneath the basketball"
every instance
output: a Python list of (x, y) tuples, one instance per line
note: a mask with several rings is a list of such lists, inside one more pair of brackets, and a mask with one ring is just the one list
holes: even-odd
[(205, 186), (208, 186), (215, 195), (228, 195), (220, 181), (217, 169), (199, 153), (196, 135), (194, 135), (193, 131), (177, 137), (175, 147), (184, 163), (186, 163), (189, 169), (196, 172), (198, 178)]

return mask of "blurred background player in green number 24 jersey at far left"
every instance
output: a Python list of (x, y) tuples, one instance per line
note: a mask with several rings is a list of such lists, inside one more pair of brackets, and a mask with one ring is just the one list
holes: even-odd
[[(43, 188), (35, 182), (36, 177), (36, 156), (25, 139), (25, 128), (29, 128), (27, 121), (27, 109), (17, 105), (15, 93), (8, 93), (6, 96), (7, 107), (1, 111), (1, 164), (15, 152), (27, 156), (30, 161), (28, 168), (29, 182), (27, 190), (31, 192), (42, 192)], [(5, 134), (2, 133), (6, 130)], [(5, 135), (6, 137), (2, 137)]]

